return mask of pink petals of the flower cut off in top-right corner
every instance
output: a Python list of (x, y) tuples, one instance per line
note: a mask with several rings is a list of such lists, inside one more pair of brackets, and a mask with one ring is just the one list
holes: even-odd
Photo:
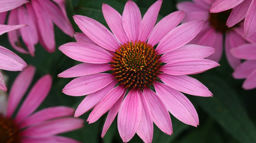
[(217, 13), (231, 9), (226, 21), (228, 27), (232, 27), (245, 18), (245, 37), (256, 32), (256, 1), (255, 0), (216, 0), (210, 12)]

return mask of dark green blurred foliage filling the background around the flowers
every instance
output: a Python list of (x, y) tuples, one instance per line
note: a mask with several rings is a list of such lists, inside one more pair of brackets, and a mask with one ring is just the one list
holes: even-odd
[[(156, 0), (135, 0), (142, 15), (155, 1)], [(176, 11), (176, 4), (181, 1), (184, 0), (163, 0), (158, 21), (169, 13)], [(68, 17), (70, 18), (75, 31), (81, 32), (72, 18), (73, 15), (78, 14), (88, 16), (108, 27), (101, 10), (102, 3), (106, 3), (122, 13), (126, 0), (66, 0), (66, 2)], [(69, 83), (72, 78), (57, 78), (58, 73), (79, 63), (65, 56), (57, 49), (60, 45), (75, 41), (75, 39), (65, 35), (55, 26), (55, 40), (55, 53), (49, 54), (40, 44), (37, 44), (35, 57), (16, 52), (9, 44), (7, 34), (0, 36), (0, 45), (15, 52), (28, 64), (32, 64), (36, 67), (37, 70), (33, 83), (47, 73), (52, 75), (52, 89), (39, 109), (57, 105), (66, 105), (76, 108), (84, 97), (72, 97), (61, 92), (62, 88)], [(245, 91), (241, 88), (243, 80), (235, 80), (232, 78), (231, 74), (233, 71), (229, 67), (224, 56), (222, 57), (220, 64), (220, 67), (193, 76), (205, 84), (213, 93), (212, 98), (187, 95), (198, 112), (200, 125), (197, 128), (186, 125), (171, 115), (173, 135), (166, 135), (154, 126), (153, 142), (256, 142), (256, 89)], [(4, 71), (4, 73), (9, 76), (7, 87), (10, 89), (14, 78), (19, 72)], [(86, 120), (89, 113), (82, 115), (80, 118)], [(85, 122), (84, 128), (62, 135), (88, 143), (122, 142), (117, 130), (116, 119), (110, 126), (105, 137), (103, 139), (101, 138), (101, 131), (105, 118), (106, 115), (92, 124)], [(135, 135), (130, 142), (141, 143), (142, 140), (138, 135)]]

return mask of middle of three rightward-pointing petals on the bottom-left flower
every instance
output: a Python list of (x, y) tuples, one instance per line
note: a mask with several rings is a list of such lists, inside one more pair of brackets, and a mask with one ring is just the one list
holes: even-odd
[(72, 117), (54, 119), (21, 131), (22, 136), (47, 137), (73, 131), (83, 127), (83, 119)]

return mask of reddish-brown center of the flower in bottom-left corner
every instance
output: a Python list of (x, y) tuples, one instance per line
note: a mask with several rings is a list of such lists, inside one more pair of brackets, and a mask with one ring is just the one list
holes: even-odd
[(0, 143), (19, 143), (19, 129), (14, 120), (0, 114)]

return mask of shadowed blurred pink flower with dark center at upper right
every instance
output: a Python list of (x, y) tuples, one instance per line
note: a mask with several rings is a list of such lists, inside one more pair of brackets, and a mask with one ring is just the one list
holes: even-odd
[(179, 10), (186, 12), (183, 22), (192, 20), (204, 20), (205, 23), (199, 34), (190, 43), (214, 47), (216, 53), (208, 59), (219, 62), (223, 53), (223, 35), (225, 34), (224, 45), (225, 54), (229, 65), (235, 69), (240, 63), (240, 59), (230, 54), (230, 49), (247, 42), (256, 42), (256, 34), (251, 37), (244, 37), (243, 22), (233, 27), (226, 26), (226, 20), (231, 9), (219, 13), (210, 13), (209, 8), (215, 0), (193, 0), (193, 2), (181, 2), (177, 5)]

